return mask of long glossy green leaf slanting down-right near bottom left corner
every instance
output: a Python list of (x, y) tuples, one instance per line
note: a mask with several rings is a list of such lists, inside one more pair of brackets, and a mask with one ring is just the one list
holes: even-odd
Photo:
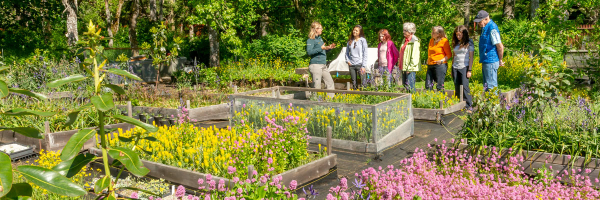
[(21, 165), (17, 166), (17, 171), (28, 181), (31, 181), (31, 183), (58, 195), (82, 196), (87, 193), (83, 187), (73, 183), (73, 181), (52, 169), (33, 165)]

